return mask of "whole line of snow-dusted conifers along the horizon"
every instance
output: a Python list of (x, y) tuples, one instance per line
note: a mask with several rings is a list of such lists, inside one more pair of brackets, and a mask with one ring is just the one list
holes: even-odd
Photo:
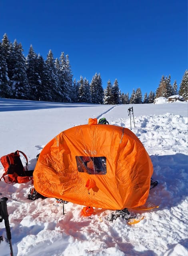
[(54, 59), (49, 50), (46, 60), (36, 54), (32, 45), (28, 55), (23, 54), (22, 44), (14, 40), (13, 44), (4, 34), (0, 42), (0, 97), (53, 102), (86, 102), (93, 104), (141, 104), (153, 103), (160, 96), (168, 98), (180, 94), (188, 97), (188, 70), (184, 73), (180, 89), (176, 80), (171, 85), (170, 76), (162, 76), (156, 92), (145, 93), (142, 97), (140, 88), (128, 93), (120, 91), (118, 80), (112, 84), (109, 80), (106, 88), (102, 87), (100, 74), (95, 74), (92, 81), (80, 76), (74, 79), (68, 55), (61, 53)]

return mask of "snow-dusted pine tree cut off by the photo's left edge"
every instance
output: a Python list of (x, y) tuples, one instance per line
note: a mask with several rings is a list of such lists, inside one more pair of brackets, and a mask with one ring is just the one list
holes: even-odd
[(8, 66), (6, 63), (5, 50), (0, 42), (0, 97), (9, 98), (11, 90), (8, 78)]

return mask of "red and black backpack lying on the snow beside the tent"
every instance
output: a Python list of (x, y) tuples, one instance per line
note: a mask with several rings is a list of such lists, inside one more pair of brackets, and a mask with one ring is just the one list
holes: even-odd
[[(19, 153), (21, 153), (26, 158), (26, 170), (24, 169)], [(28, 158), (24, 152), (16, 150), (14, 153), (2, 156), (0, 161), (4, 167), (4, 174), (0, 178), (0, 181), (2, 178), (4, 178), (6, 183), (26, 183), (33, 179), (32, 175), (34, 170), (28, 171)], [(5, 178), (6, 175), (8, 175), (9, 182), (7, 182), (7, 179)]]

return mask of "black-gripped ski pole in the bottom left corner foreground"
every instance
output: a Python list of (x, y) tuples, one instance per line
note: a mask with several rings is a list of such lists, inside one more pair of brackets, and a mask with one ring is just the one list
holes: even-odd
[(5, 224), (5, 228), (6, 228), (6, 237), (7, 237), (8, 243), (9, 243), (9, 247), (10, 247), (10, 256), (13, 256), (10, 224), (9, 224), (9, 221), (8, 221), (8, 211), (7, 211), (7, 204), (6, 204), (7, 200), (8, 200), (7, 197), (1, 198), (0, 213), (1, 213), (2, 219), (4, 219), (4, 224)]

